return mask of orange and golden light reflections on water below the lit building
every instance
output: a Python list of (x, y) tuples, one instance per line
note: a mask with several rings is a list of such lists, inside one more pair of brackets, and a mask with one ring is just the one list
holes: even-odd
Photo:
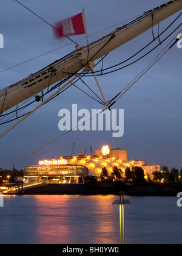
[(115, 196), (35, 196), (37, 243), (119, 243)]

